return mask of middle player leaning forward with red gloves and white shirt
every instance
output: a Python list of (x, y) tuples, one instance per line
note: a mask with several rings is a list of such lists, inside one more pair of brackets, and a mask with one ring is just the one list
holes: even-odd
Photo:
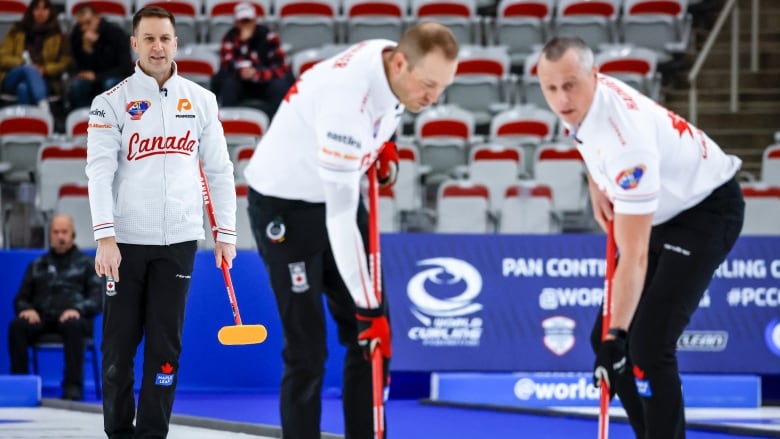
[(320, 62), (290, 88), (246, 168), (252, 232), (284, 329), (285, 438), (320, 437), (323, 292), (347, 348), (346, 437), (373, 437), (368, 353), (378, 345), (389, 361), (392, 349), (388, 303), (376, 297), (367, 268), (360, 180), (376, 163), (380, 183), (393, 183), (397, 155), (388, 139), (404, 108), (416, 113), (438, 100), (457, 57), (452, 32), (423, 23), (398, 43), (363, 41)]

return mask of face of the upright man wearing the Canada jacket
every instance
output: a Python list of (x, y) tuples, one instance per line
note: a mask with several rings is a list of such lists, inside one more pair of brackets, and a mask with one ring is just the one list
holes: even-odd
[(135, 35), (130, 38), (130, 44), (138, 54), (141, 69), (147, 75), (158, 82), (171, 76), (177, 42), (170, 20), (158, 17), (142, 18)]

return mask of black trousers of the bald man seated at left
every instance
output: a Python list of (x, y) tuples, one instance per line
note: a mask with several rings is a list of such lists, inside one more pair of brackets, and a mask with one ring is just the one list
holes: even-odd
[(54, 332), (63, 340), (65, 371), (63, 387), (83, 389), (84, 382), (84, 338), (92, 335), (92, 320), (70, 319), (41, 320), (31, 324), (26, 319), (15, 318), (8, 327), (8, 354), (11, 357), (12, 374), (30, 373), (30, 345), (41, 334)]

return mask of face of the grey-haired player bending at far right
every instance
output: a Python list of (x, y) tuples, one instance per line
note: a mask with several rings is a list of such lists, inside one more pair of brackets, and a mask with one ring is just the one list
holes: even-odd
[(542, 55), (536, 70), (547, 105), (567, 124), (581, 123), (596, 93), (596, 68), (583, 70), (577, 52), (568, 49), (557, 61)]

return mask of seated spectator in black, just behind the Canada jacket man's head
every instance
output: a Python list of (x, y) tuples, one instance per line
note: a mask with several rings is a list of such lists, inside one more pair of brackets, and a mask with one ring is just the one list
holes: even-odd
[(73, 50), (71, 108), (89, 107), (92, 99), (113, 87), (132, 72), (130, 36), (100, 16), (85, 3), (76, 10), (76, 25), (70, 34)]

